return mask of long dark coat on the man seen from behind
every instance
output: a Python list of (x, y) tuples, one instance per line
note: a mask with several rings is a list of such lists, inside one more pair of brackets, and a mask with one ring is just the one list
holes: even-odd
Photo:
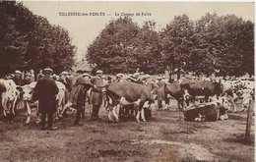
[(34, 87), (34, 91), (37, 93), (39, 101), (39, 113), (55, 113), (57, 111), (56, 94), (59, 89), (53, 79), (44, 77), (38, 80)]

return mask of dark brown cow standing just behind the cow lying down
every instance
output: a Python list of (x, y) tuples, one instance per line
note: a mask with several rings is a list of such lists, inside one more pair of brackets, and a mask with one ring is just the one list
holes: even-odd
[(210, 96), (220, 96), (223, 93), (221, 83), (213, 81), (183, 81), (180, 86), (191, 95), (193, 103), (196, 96), (205, 96), (205, 101), (207, 102)]

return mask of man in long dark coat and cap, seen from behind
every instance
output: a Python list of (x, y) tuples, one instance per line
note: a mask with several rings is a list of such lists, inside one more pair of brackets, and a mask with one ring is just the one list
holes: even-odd
[(53, 127), (53, 114), (57, 112), (56, 95), (58, 93), (58, 86), (55, 81), (51, 79), (53, 71), (50, 68), (43, 70), (44, 77), (37, 81), (34, 91), (38, 96), (38, 110), (41, 113), (41, 130), (46, 130), (45, 121), (47, 117), (47, 129), (57, 130)]

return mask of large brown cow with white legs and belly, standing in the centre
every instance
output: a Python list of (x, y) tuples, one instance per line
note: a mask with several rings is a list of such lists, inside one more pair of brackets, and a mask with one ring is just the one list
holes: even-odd
[(105, 93), (110, 98), (107, 105), (107, 109), (110, 110), (108, 118), (116, 122), (119, 122), (120, 108), (132, 103), (136, 104), (138, 110), (136, 120), (140, 122), (140, 116), (142, 116), (142, 120), (146, 121), (143, 108), (155, 101), (147, 86), (129, 81), (108, 84)]

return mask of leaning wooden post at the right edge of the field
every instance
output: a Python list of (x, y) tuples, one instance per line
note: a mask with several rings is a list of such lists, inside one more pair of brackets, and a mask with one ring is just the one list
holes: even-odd
[(248, 113), (247, 113), (246, 130), (245, 130), (245, 141), (246, 142), (251, 142), (251, 125), (252, 125), (253, 109), (254, 109), (254, 100), (250, 100)]

